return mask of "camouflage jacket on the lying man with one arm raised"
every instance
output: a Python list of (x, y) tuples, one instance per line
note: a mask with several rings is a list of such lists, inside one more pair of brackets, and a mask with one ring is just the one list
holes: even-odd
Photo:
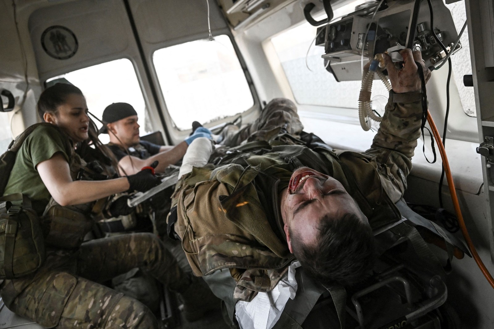
[[(364, 153), (333, 151), (316, 139), (294, 145), (273, 139), (231, 149), (236, 156), (229, 164), (208, 164), (184, 175), (172, 197), (174, 230), (194, 274), (228, 268), (237, 281), (234, 296), (241, 300), (276, 286), (293, 259), (278, 194), (299, 166), (341, 182), (373, 229), (398, 221), (394, 203), (407, 186), (421, 112), (419, 93), (390, 92), (380, 129)], [(263, 151), (254, 151), (259, 149)]]

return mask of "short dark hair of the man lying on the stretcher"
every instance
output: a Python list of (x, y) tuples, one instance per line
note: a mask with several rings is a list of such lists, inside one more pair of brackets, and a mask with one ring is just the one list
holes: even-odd
[(293, 254), (309, 276), (325, 285), (353, 286), (366, 277), (375, 258), (371, 227), (357, 215), (334, 219), (324, 216), (315, 246), (302, 243), (290, 231)]

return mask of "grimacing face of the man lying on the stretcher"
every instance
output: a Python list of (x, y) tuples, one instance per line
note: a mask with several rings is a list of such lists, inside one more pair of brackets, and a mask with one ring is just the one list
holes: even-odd
[(340, 182), (308, 167), (293, 172), (288, 189), (282, 194), (280, 206), (290, 252), (290, 231), (296, 232), (303, 243), (314, 245), (322, 218), (332, 220), (354, 214), (368, 223)]

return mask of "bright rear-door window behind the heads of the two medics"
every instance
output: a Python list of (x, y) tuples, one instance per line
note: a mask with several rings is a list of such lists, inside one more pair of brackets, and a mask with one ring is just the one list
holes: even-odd
[[(99, 119), (101, 119), (103, 110), (108, 105), (124, 102), (132, 105), (137, 112), (141, 126), (139, 128), (141, 136), (153, 130), (146, 104), (144, 103), (144, 97), (130, 60), (125, 58), (118, 59), (55, 76), (48, 79), (46, 85), (49, 86), (50, 82), (63, 82), (64, 80), (81, 89), (86, 98), (89, 112)], [(93, 117), (91, 119), (98, 128), (102, 126)], [(110, 141), (110, 137), (107, 134), (101, 134), (99, 138), (103, 143)]]

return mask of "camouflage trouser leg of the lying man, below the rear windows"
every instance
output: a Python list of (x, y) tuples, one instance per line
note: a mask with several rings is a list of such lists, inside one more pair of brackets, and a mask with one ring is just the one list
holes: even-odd
[(239, 129), (230, 125), (225, 127), (221, 144), (239, 146), (242, 142), (270, 140), (280, 133), (298, 137), (304, 129), (297, 114), (297, 108), (286, 98), (275, 98), (261, 111), (259, 117), (246, 127)]

